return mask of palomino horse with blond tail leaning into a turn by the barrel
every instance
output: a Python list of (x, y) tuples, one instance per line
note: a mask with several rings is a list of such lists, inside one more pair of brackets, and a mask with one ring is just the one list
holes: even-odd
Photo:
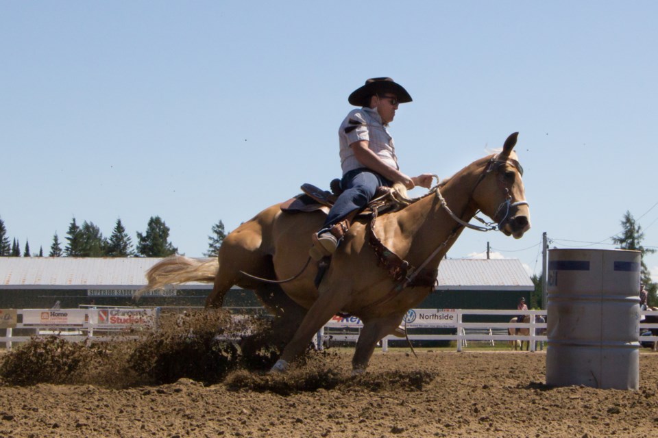
[[(474, 227), (467, 222), (478, 210), (493, 219), (505, 235), (520, 238), (530, 229), (522, 168), (513, 151), (516, 139), (517, 133), (513, 133), (500, 153), (478, 159), (403, 209), (378, 216), (372, 230), (367, 219), (356, 218), (318, 287), (314, 263), (300, 270), (308, 263), (311, 236), (320, 229), (325, 214), (286, 213), (278, 204), (226, 236), (217, 260), (164, 259), (147, 274), (145, 289), (214, 281), (206, 300), (210, 307), (221, 307), (232, 285), (253, 289), (275, 316), (291, 322), (295, 329), (291, 339), (283, 331), (277, 333), (289, 342), (273, 371), (287, 370), (333, 315), (356, 315), (364, 326), (352, 368), (355, 373), (363, 372), (377, 342), (393, 333), (406, 311), (434, 289), (439, 262), (465, 226)], [(397, 270), (398, 279), (382, 268), (386, 263), (369, 245), (371, 234), (385, 246), (385, 256), (394, 253), (404, 260), (404, 269)], [(293, 280), (271, 284), (253, 276)], [(426, 281), (409, 281), (421, 278)]]

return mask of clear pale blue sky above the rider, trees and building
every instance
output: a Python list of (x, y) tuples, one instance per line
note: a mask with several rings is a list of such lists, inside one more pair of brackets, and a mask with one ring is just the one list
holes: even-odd
[(348, 94), (389, 76), (414, 99), (391, 125), (409, 175), (448, 177), (520, 131), (533, 229), (465, 231), (450, 257), (491, 242), (539, 273), (542, 232), (613, 248), (626, 210), (658, 248), (657, 16), (655, 1), (1, 1), (0, 218), (47, 253), (73, 217), (106, 236), (121, 218), (135, 242), (158, 215), (201, 256), (217, 221), (339, 176)]

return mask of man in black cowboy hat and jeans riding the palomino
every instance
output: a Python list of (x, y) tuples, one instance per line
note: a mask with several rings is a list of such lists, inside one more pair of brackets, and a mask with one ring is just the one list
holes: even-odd
[(369, 203), (379, 186), (402, 183), (409, 190), (416, 185), (430, 188), (431, 174), (409, 177), (400, 171), (387, 129), (398, 105), (411, 100), (409, 92), (389, 77), (368, 79), (348, 97), (350, 104), (361, 108), (352, 110), (339, 128), (343, 192), (313, 236), (313, 259), (335, 252), (352, 218)]

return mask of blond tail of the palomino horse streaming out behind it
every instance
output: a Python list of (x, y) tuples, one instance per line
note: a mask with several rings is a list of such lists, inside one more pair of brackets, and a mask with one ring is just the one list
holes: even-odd
[(146, 272), (148, 284), (135, 292), (135, 298), (142, 296), (149, 290), (164, 289), (170, 285), (199, 281), (212, 283), (215, 281), (219, 261), (212, 259), (191, 259), (182, 255), (172, 255), (158, 261)]

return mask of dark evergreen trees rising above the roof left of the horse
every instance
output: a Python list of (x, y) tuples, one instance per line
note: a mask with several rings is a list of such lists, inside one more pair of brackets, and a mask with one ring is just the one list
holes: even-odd
[[(212, 226), (212, 236), (208, 236), (208, 257), (217, 255), (219, 246), (226, 233), (221, 220)], [(121, 219), (117, 219), (110, 237), (103, 237), (99, 227), (93, 222), (82, 222), (78, 225), (75, 218), (71, 220), (66, 231), (64, 242), (55, 232), (48, 257), (167, 257), (178, 253), (178, 248), (169, 241), (169, 227), (160, 216), (151, 216), (145, 233), (137, 232), (136, 245), (133, 245), (130, 235), (125, 231)], [(64, 245), (64, 248), (62, 248)], [(39, 247), (38, 255), (32, 254), (29, 242), (21, 252), (21, 243), (15, 237), (10, 244), (5, 223), (0, 218), (0, 257), (43, 257), (43, 248)]]

